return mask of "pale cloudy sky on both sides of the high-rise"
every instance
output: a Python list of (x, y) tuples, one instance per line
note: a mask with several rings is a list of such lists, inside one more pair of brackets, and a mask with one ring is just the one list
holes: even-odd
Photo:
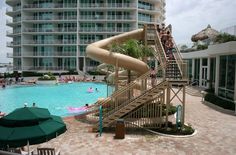
[[(10, 62), (6, 58), (5, 0), (0, 0), (0, 63)], [(191, 43), (191, 36), (206, 28), (208, 24), (216, 30), (236, 25), (236, 0), (166, 0), (166, 25), (171, 24), (177, 44)]]

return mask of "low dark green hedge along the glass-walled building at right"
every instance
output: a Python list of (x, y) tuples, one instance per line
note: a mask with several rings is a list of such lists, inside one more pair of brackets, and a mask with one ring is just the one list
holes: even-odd
[(224, 100), (214, 94), (207, 93), (205, 96), (205, 101), (211, 102), (217, 106), (220, 106), (224, 109), (235, 110), (235, 105), (231, 101)]

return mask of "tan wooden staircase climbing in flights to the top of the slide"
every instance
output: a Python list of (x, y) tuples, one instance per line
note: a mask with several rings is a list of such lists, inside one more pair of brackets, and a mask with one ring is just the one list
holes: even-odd
[[(144, 108), (147, 104), (151, 104), (154, 100), (158, 100), (157, 106), (153, 107), (160, 107), (164, 104), (167, 104), (165, 101), (165, 90), (170, 91), (171, 83), (178, 83), (180, 82), (181, 86), (184, 86), (186, 81), (186, 64), (183, 62), (182, 57), (175, 45), (176, 52), (173, 52), (173, 56), (170, 59), (168, 55), (166, 55), (166, 52), (162, 46), (161, 39), (159, 37), (158, 32), (156, 31), (155, 25), (147, 25), (144, 27), (145, 31), (145, 37), (144, 42), (145, 45), (152, 46), (154, 48), (153, 55), (157, 61), (159, 61), (160, 66), (157, 68), (158, 70), (162, 70), (162, 81), (159, 82), (159, 84), (155, 85), (154, 87), (150, 88), (150, 86), (147, 85), (148, 79), (150, 80), (150, 71), (143, 74), (142, 76), (138, 77), (133, 82), (121, 87), (117, 91), (115, 91), (110, 98), (105, 99), (101, 105), (104, 107), (109, 104), (109, 109), (105, 112), (103, 112), (103, 127), (109, 127), (112, 126), (112, 124), (115, 123), (115, 121), (119, 118), (126, 118), (127, 116), (131, 116), (132, 113), (135, 113), (136, 111), (143, 111), (141, 108)], [(118, 103), (118, 99), (124, 97), (127, 94), (130, 94), (130, 92), (133, 92), (135, 89), (135, 85), (140, 82), (139, 84), (146, 84), (146, 90), (140, 90), (140, 94), (138, 96), (132, 97), (132, 95), (129, 95), (129, 97), (126, 96), (125, 99), (123, 99), (121, 102)], [(185, 92), (184, 92), (185, 93)], [(130, 98), (131, 96), (131, 98)], [(170, 96), (167, 96), (168, 98)], [(168, 100), (168, 99), (167, 99)], [(111, 102), (113, 101), (113, 102)], [(184, 103), (185, 101), (183, 101)], [(160, 104), (159, 104), (160, 103)], [(169, 103), (168, 103), (169, 104)], [(154, 104), (155, 105), (155, 104)], [(168, 106), (167, 106), (168, 107)], [(162, 109), (162, 108), (160, 108)], [(168, 110), (168, 109), (167, 109)], [(153, 115), (154, 116), (154, 115)], [(135, 120), (139, 121), (141, 120), (142, 116), (139, 115), (139, 118), (135, 118)], [(156, 117), (156, 115), (155, 115)], [(160, 119), (162, 116), (158, 116)], [(168, 115), (166, 117), (166, 122), (168, 122)], [(158, 120), (158, 118), (151, 118), (150, 120)], [(145, 120), (147, 120), (145, 118)], [(162, 120), (162, 118), (161, 118)], [(159, 122), (160, 123), (160, 122)], [(98, 130), (99, 123), (96, 123), (94, 126), (95, 130)]]

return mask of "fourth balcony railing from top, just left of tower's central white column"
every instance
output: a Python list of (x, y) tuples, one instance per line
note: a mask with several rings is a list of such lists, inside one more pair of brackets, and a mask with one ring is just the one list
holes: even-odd
[(76, 44), (76, 40), (25, 40), (23, 44)]

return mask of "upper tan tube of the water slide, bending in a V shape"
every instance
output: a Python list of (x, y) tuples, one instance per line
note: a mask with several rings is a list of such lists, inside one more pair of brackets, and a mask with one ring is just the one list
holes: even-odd
[(106, 49), (112, 43), (123, 43), (129, 39), (143, 40), (144, 35), (143, 29), (138, 29), (106, 38), (88, 45), (86, 48), (86, 54), (91, 59), (114, 66), (118, 61), (119, 67), (135, 71), (139, 75), (142, 75), (149, 70), (146, 63), (124, 54), (110, 52)]

